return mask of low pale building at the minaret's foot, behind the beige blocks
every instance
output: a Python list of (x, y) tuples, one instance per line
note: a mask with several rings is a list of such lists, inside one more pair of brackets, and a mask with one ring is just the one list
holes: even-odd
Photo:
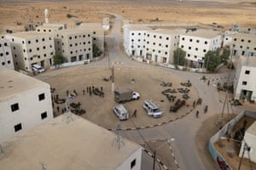
[(38, 32), (51, 33), (54, 31), (60, 31), (67, 29), (66, 24), (54, 24), (54, 23), (44, 23), (43, 26), (38, 26), (36, 30)]

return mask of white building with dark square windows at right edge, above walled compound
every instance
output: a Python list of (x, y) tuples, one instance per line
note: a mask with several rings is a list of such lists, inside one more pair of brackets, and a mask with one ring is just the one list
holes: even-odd
[(235, 99), (256, 100), (256, 57), (241, 56), (234, 79)]

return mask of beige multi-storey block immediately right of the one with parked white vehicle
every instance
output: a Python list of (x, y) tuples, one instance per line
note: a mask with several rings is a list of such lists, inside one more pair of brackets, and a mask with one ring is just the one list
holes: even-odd
[(55, 31), (55, 53), (67, 62), (92, 59), (92, 34), (90, 31), (70, 29)]

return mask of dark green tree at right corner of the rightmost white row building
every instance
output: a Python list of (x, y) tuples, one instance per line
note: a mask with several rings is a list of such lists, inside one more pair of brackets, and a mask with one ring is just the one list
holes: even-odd
[(207, 67), (207, 71), (214, 71), (217, 66), (221, 63), (221, 58), (218, 55), (218, 51), (208, 51), (205, 54), (204, 65)]

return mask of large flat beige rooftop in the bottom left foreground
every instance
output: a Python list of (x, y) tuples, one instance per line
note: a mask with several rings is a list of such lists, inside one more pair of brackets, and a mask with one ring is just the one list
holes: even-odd
[[(70, 113), (71, 114), (71, 113)], [(58, 116), (3, 143), (1, 169), (113, 170), (141, 147), (128, 140), (120, 148), (114, 133), (79, 116)], [(1, 157), (0, 157), (1, 158)]]

